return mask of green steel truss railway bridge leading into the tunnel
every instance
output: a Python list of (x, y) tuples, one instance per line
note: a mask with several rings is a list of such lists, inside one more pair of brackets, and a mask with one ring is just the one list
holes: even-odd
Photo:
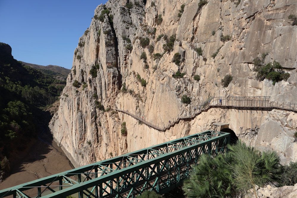
[(136, 197), (164, 194), (189, 177), (202, 153), (226, 151), (229, 133), (205, 131), (0, 191), (2, 197)]

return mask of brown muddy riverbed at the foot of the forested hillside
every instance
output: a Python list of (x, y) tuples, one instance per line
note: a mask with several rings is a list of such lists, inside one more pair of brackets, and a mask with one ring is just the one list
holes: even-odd
[(0, 190), (70, 170), (73, 165), (55, 141), (42, 137), (20, 163), (11, 164), (11, 167), (11, 175), (0, 183)]

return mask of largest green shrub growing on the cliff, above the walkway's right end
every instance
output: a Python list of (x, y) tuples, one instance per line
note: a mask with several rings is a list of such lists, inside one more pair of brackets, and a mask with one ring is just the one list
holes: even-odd
[(253, 60), (254, 62), (254, 71), (256, 74), (256, 79), (263, 81), (264, 79), (268, 79), (272, 81), (272, 84), (281, 81), (281, 80), (288, 80), (290, 74), (284, 72), (282, 70), (282, 66), (277, 61), (273, 61), (271, 63), (265, 64), (265, 58), (268, 53), (263, 53), (261, 58), (257, 57)]

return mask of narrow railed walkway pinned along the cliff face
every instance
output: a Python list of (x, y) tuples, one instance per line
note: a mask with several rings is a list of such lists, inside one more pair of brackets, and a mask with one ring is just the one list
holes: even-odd
[(192, 113), (188, 117), (178, 117), (174, 118), (167, 125), (163, 124), (162, 126), (154, 125), (151, 122), (148, 122), (141, 118), (138, 115), (135, 115), (129, 111), (121, 110), (115, 108), (118, 112), (126, 113), (136, 120), (146, 124), (147, 126), (157, 129), (158, 131), (165, 132), (170, 129), (170, 127), (174, 126), (180, 120), (190, 120), (195, 118), (200, 113), (207, 111), (210, 108), (220, 108), (220, 109), (237, 109), (237, 110), (256, 110), (256, 111), (271, 111), (273, 109), (278, 110), (286, 110), (297, 113), (297, 105), (293, 103), (284, 103), (284, 102), (274, 102), (270, 101), (270, 96), (252, 96), (252, 97), (236, 97), (236, 96), (228, 96), (228, 97), (214, 97), (209, 99), (208, 101), (203, 102), (202, 104), (195, 107), (195, 112)]

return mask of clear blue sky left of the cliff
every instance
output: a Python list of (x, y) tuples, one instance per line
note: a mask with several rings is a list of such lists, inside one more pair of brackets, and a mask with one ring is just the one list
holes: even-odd
[(70, 69), (78, 39), (106, 0), (0, 0), (0, 42), (18, 61)]

